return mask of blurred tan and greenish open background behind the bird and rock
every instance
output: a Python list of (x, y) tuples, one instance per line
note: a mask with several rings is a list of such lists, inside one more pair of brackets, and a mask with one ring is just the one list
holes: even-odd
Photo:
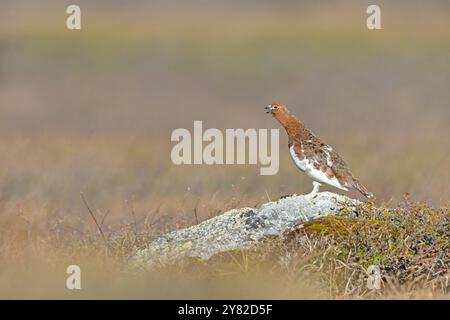
[(82, 229), (80, 192), (105, 225), (130, 212), (192, 224), (309, 192), (284, 131), (275, 176), (170, 160), (171, 132), (194, 120), (279, 128), (263, 112), (272, 102), (338, 150), (377, 201), (448, 203), (450, 2), (376, 1), (379, 31), (366, 28), (373, 1), (75, 2), (80, 31), (65, 26), (74, 1), (0, 4), (3, 230), (55, 219)]

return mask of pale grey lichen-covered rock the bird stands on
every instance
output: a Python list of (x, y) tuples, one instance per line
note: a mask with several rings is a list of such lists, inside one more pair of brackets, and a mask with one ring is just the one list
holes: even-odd
[(279, 236), (313, 219), (355, 210), (358, 200), (331, 192), (311, 198), (293, 195), (269, 202), (261, 208), (227, 211), (198, 225), (172, 231), (139, 250), (131, 259), (133, 267), (151, 268), (173, 264), (185, 257), (209, 259), (230, 250), (249, 249), (259, 240)]

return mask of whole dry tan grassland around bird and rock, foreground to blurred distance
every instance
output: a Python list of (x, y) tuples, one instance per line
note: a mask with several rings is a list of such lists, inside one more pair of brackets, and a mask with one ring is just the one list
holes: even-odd
[[(68, 33), (63, 6), (19, 2), (0, 10), (0, 297), (448, 298), (429, 256), (448, 241), (434, 228), (448, 221), (450, 194), (447, 4), (384, 2), (383, 31), (368, 33), (360, 1), (331, 11), (297, 1), (86, 2), (83, 31)], [(400, 221), (368, 210), (344, 233), (122, 276), (131, 249), (162, 232), (309, 191), (284, 139), (276, 176), (170, 162), (173, 129), (194, 120), (273, 128), (262, 108), (275, 101), (333, 145)], [(427, 205), (404, 205), (405, 194)], [(377, 241), (389, 236), (395, 250)], [(380, 292), (364, 291), (369, 262), (386, 272)], [(72, 263), (82, 266), (82, 292), (64, 288)]]

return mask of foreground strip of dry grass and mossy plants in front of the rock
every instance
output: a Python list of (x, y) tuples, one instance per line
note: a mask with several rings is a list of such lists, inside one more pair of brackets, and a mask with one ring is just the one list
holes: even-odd
[[(92, 210), (86, 207), (86, 211)], [(99, 227), (82, 237), (51, 221), (45, 233), (28, 225), (1, 233), (2, 298), (272, 298), (448, 299), (448, 207), (404, 202), (362, 205), (325, 217), (251, 250), (208, 261), (130, 272), (136, 248), (154, 239), (154, 223), (131, 220)], [(95, 215), (95, 213), (92, 213)], [(86, 215), (89, 215), (87, 212)], [(17, 218), (20, 219), (20, 218)], [(94, 225), (93, 219), (86, 223)], [(103, 238), (98, 230), (103, 230)], [(82, 269), (82, 290), (64, 288), (65, 268)], [(367, 268), (381, 270), (380, 290), (367, 288)], [(14, 267), (13, 267), (14, 266)], [(26, 286), (21, 284), (27, 283)], [(39, 290), (44, 288), (44, 290)]]

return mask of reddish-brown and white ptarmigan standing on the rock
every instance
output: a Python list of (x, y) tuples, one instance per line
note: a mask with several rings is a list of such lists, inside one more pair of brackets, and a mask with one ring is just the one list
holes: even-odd
[(286, 129), (292, 160), (313, 180), (310, 196), (314, 196), (322, 183), (325, 183), (345, 191), (355, 188), (365, 197), (373, 197), (373, 194), (353, 177), (339, 154), (308, 130), (285, 105), (273, 103), (266, 107), (266, 112), (271, 113)]

